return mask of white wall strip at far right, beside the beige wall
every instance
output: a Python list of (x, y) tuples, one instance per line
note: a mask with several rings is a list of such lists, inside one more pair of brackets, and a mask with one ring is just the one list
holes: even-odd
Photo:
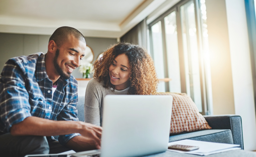
[(243, 120), (246, 150), (256, 150), (253, 76), (245, 0), (226, 0), (235, 113)]

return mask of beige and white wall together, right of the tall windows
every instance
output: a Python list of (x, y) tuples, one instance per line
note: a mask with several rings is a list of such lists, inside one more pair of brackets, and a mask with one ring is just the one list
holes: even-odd
[(256, 117), (244, 0), (206, 0), (213, 113), (242, 117), (245, 150), (256, 150)]

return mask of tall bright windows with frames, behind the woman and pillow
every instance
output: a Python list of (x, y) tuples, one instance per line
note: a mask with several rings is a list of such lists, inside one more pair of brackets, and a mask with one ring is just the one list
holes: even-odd
[[(149, 24), (150, 52), (161, 82), (158, 91), (185, 92), (207, 114), (211, 89), (205, 0), (181, 0)], [(209, 86), (209, 87), (208, 87)]]

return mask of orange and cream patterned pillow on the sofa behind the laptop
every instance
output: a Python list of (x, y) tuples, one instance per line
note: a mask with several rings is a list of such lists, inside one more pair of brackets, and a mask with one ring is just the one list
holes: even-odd
[(211, 129), (193, 100), (185, 93), (158, 92), (157, 95), (173, 96), (170, 134)]

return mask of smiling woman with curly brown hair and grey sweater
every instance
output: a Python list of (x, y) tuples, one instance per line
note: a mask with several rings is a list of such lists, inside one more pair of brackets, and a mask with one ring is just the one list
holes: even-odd
[(86, 123), (101, 126), (105, 95), (150, 95), (157, 91), (153, 60), (139, 45), (115, 44), (95, 61), (93, 68), (93, 79), (88, 82), (85, 92)]

